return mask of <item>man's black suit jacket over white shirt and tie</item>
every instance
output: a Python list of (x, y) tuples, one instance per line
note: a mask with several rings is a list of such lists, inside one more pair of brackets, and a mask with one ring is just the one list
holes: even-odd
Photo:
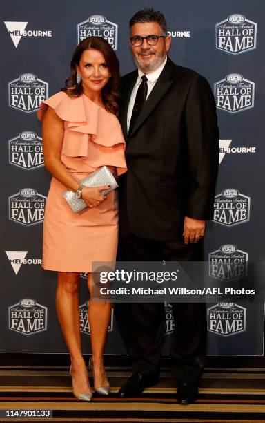
[(180, 240), (184, 216), (213, 216), (219, 157), (215, 100), (204, 77), (168, 58), (128, 137), (137, 75), (121, 79), (119, 120), (128, 165), (120, 178), (121, 236)]

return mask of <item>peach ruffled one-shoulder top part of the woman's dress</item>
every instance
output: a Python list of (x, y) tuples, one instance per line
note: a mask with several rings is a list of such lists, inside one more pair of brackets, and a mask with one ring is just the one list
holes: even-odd
[(61, 156), (67, 156), (62, 160), (67, 162), (67, 167), (70, 158), (82, 158), (83, 163), (91, 167), (115, 166), (118, 175), (126, 172), (125, 141), (115, 115), (84, 94), (69, 97), (63, 91), (41, 103), (37, 112), (39, 120), (43, 120), (48, 106), (64, 122)]

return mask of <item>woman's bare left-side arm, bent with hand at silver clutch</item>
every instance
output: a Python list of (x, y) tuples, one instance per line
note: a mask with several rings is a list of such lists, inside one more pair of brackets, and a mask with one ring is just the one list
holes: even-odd
[[(70, 172), (61, 162), (61, 148), (63, 145), (64, 125), (63, 120), (49, 106), (43, 117), (43, 154), (46, 169), (52, 173), (65, 187), (76, 191), (79, 182), (72, 177)], [(83, 188), (82, 198), (86, 200), (89, 207), (95, 207), (105, 200), (101, 191), (108, 189), (108, 186), (97, 188)]]

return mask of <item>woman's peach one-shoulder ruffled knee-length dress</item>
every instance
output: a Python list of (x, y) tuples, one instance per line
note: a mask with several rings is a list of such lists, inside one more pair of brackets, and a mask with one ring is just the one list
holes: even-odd
[[(118, 119), (86, 95), (59, 92), (41, 103), (42, 120), (48, 106), (64, 121), (61, 162), (77, 180), (101, 166), (126, 172), (125, 142)], [(98, 207), (75, 214), (63, 198), (66, 190), (52, 178), (43, 223), (46, 270), (92, 272), (93, 261), (115, 261), (118, 239), (117, 190)]]

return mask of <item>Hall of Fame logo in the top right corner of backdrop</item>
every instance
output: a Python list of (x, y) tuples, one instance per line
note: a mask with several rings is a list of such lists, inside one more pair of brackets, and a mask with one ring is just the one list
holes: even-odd
[(239, 55), (256, 48), (257, 23), (234, 13), (215, 25), (216, 48), (231, 55)]

